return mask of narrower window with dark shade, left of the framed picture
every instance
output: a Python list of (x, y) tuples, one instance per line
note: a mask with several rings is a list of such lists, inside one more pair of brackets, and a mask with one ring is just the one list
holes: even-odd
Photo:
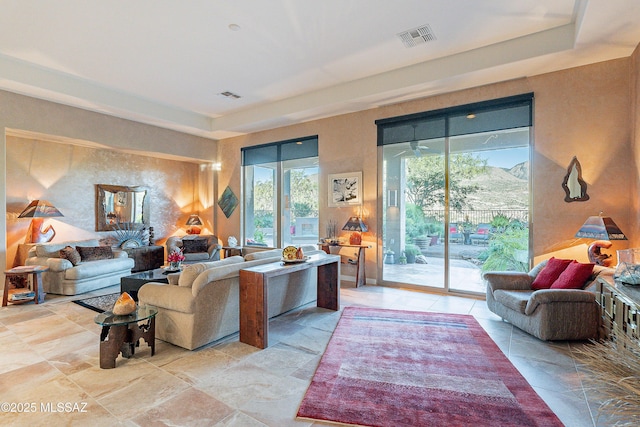
[(318, 242), (318, 137), (242, 149), (246, 246)]

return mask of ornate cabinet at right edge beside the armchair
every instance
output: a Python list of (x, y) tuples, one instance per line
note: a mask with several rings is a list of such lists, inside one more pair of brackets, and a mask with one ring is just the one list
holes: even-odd
[(609, 334), (640, 340), (640, 287), (617, 283), (612, 276), (598, 277), (596, 299)]

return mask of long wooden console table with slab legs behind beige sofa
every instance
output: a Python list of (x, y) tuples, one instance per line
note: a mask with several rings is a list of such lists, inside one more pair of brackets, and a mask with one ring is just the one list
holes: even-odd
[(269, 346), (267, 295), (269, 281), (296, 271), (318, 268), (318, 307), (340, 309), (340, 257), (315, 254), (307, 262), (272, 262), (240, 270), (240, 342)]

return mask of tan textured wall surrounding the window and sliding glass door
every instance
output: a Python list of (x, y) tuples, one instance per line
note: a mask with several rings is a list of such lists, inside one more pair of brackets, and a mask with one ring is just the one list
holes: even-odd
[[(630, 205), (638, 196), (628, 183), (638, 179), (631, 140), (631, 109), (638, 100), (630, 95), (630, 63), (630, 58), (607, 61), (221, 140), (218, 192), (230, 185), (240, 194), (241, 147), (318, 135), (321, 194), (326, 194), (328, 174), (363, 171), (370, 224), (364, 238), (381, 248), (382, 237), (376, 232), (381, 227), (377, 215), (381, 177), (375, 120), (533, 92), (533, 254), (584, 243), (573, 235), (587, 216), (601, 210), (636, 241), (638, 214), (632, 215)], [(635, 79), (637, 86), (637, 74)], [(573, 156), (580, 160), (589, 185), (588, 202), (564, 202), (561, 184)], [(341, 223), (351, 214), (348, 208), (329, 208), (324, 196), (320, 201), (321, 230), (327, 220)], [(240, 214), (234, 212), (229, 219), (219, 215), (218, 226), (225, 236), (239, 236)], [(613, 249), (628, 244), (614, 242)], [(367, 251), (369, 278), (376, 277), (381, 260), (380, 250)]]

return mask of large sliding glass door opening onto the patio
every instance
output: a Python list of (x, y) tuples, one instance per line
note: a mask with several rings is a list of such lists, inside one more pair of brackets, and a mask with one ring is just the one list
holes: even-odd
[(504, 104), (378, 123), (383, 284), (484, 293), (483, 270), (529, 268), (531, 98)]

